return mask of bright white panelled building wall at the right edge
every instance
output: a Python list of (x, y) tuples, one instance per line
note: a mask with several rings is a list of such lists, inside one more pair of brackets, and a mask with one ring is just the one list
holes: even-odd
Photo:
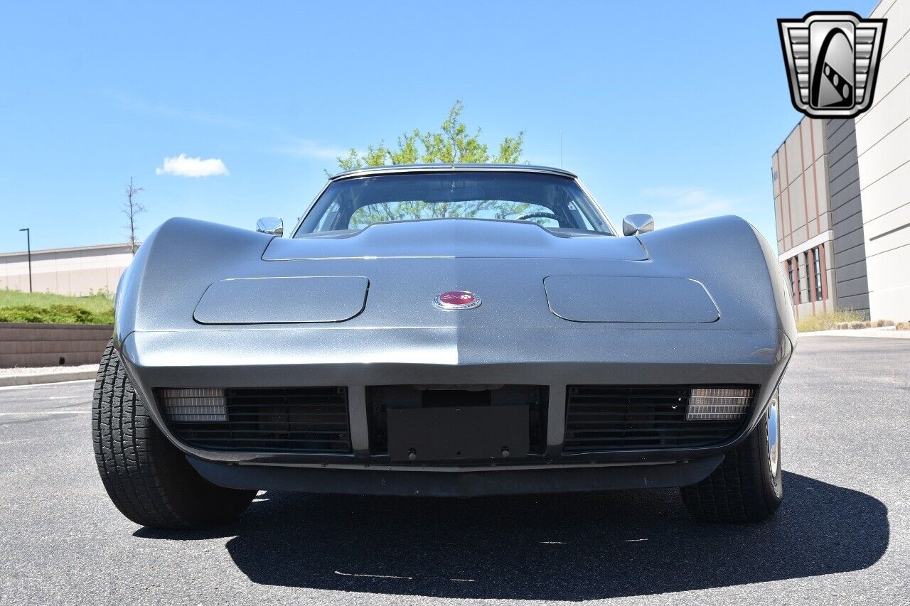
[(888, 20), (874, 105), (856, 117), (869, 311), (910, 319), (910, 0), (882, 0)]

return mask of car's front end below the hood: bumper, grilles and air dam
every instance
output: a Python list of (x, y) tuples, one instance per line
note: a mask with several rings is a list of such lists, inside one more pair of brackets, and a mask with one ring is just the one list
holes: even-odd
[[(540, 480), (502, 477), (484, 491), (693, 483), (754, 428), (789, 357), (782, 334), (572, 330), (502, 359), (515, 330), (388, 331), (369, 343), (336, 330), (334, 355), (313, 330), (226, 332), (134, 333), (122, 355), (159, 428), (204, 477), (260, 490), (453, 494), (472, 480), (451, 472), (507, 470)], [(684, 354), (630, 354), (629, 339)], [(581, 361), (580, 349), (601, 360)], [(331, 361), (348, 356), (357, 361)], [(570, 488), (546, 471), (569, 469), (589, 472)], [(356, 474), (340, 482), (332, 470)], [(402, 471), (425, 473), (393, 481)], [(438, 472), (450, 478), (417, 481)]]

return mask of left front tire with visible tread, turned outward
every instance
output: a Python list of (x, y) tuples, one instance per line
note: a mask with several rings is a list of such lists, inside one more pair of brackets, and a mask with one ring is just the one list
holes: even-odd
[(223, 524), (256, 496), (216, 486), (192, 468), (129, 384), (113, 339), (95, 381), (92, 438), (107, 495), (136, 524), (166, 530)]

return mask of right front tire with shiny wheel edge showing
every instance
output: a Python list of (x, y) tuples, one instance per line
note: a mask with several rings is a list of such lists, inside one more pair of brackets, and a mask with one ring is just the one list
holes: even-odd
[(686, 509), (697, 520), (712, 522), (757, 522), (773, 515), (784, 499), (780, 436), (775, 391), (752, 434), (710, 476), (680, 489)]

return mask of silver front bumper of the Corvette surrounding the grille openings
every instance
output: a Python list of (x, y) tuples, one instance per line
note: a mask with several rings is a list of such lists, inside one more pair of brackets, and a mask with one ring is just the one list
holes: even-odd
[[(566, 323), (566, 328), (559, 330), (528, 327), (364, 330), (295, 325), (135, 331), (119, 342), (119, 348), (130, 379), (148, 403), (158, 427), (195, 460), (303, 469), (341, 470), (354, 466), (371, 473), (393, 474), (431, 471), (423, 465), (389, 465), (388, 458), (370, 454), (365, 396), (369, 386), (547, 386), (545, 452), (529, 460), (499, 464), (495, 470), (486, 466), (494, 474), (537, 465), (566, 470), (596, 463), (682, 463), (723, 455), (752, 431), (793, 350), (780, 330), (616, 328), (574, 323)], [(721, 444), (698, 449), (562, 453), (569, 385), (719, 383), (759, 386), (750, 419), (739, 434)], [(348, 389), (350, 453), (196, 449), (168, 431), (153, 395), (157, 388), (325, 385), (343, 385)], [(521, 473), (525, 471), (529, 470), (522, 469)], [(647, 473), (642, 471), (639, 476), (647, 477)]]

